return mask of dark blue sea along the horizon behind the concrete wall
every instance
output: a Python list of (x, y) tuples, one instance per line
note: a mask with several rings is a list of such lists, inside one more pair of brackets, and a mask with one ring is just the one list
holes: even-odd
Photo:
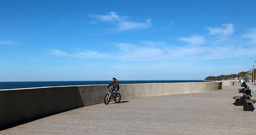
[[(133, 83), (187, 83), (205, 82), (201, 80), (152, 80), (152, 81), (119, 81), (119, 84)], [(32, 81), (32, 82), (0, 82), (0, 89), (36, 88), (48, 86), (74, 86), (74, 85), (97, 85), (109, 84), (111, 81)]]

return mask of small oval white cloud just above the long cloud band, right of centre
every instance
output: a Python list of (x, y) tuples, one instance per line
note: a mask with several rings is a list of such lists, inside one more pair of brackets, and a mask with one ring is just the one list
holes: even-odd
[(189, 43), (190, 45), (200, 45), (206, 42), (201, 35), (192, 35), (190, 37), (181, 37), (180, 40)]

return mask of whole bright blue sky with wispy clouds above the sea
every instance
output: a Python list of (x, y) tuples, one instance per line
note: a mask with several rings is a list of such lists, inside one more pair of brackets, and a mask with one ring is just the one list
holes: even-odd
[(0, 0), (0, 81), (203, 80), (256, 64), (255, 0)]

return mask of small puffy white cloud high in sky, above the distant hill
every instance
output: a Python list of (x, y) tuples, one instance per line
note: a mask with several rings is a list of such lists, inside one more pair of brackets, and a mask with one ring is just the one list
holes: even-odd
[(222, 24), (222, 27), (211, 28), (208, 27), (209, 35), (231, 35), (235, 32), (235, 26), (233, 24)]

